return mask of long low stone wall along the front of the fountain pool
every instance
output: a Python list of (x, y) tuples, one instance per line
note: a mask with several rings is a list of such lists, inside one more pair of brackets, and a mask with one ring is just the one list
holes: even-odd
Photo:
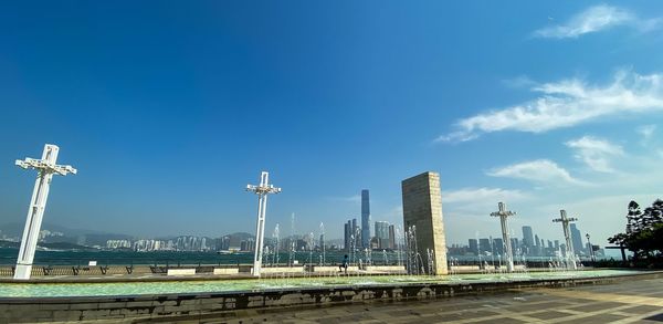
[(511, 289), (572, 286), (623, 280), (660, 279), (662, 272), (636, 275), (511, 282), (438, 282), (375, 286), (344, 285), (325, 289), (267, 290), (223, 293), (188, 293), (113, 297), (0, 299), (0, 323), (108, 322), (201, 320), (221, 317), (240, 310), (285, 306), (320, 306), (371, 301), (430, 300), (457, 295), (494, 293)]

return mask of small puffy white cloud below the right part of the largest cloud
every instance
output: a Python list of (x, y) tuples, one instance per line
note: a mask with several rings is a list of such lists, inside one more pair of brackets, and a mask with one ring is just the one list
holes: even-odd
[(614, 173), (610, 167), (610, 157), (624, 154), (621, 146), (592, 136), (583, 136), (565, 144), (576, 150), (575, 157), (578, 160), (599, 173)]

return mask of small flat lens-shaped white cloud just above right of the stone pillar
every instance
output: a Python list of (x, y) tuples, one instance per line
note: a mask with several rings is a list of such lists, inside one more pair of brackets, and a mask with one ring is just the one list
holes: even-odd
[(537, 159), (506, 167), (495, 168), (487, 173), (492, 177), (524, 179), (548, 185), (586, 185), (548, 159)]

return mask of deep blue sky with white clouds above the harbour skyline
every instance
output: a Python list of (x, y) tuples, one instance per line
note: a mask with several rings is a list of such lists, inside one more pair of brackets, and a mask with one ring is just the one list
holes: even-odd
[[(0, 217), (22, 222), (45, 143), (76, 176), (46, 222), (137, 236), (254, 231), (269, 170), (278, 222), (340, 238), (371, 191), (442, 177), (449, 243), (498, 236), (499, 200), (599, 243), (660, 197), (663, 6), (654, 2), (129, 1), (0, 10)], [(282, 233), (287, 232), (285, 230)]]

